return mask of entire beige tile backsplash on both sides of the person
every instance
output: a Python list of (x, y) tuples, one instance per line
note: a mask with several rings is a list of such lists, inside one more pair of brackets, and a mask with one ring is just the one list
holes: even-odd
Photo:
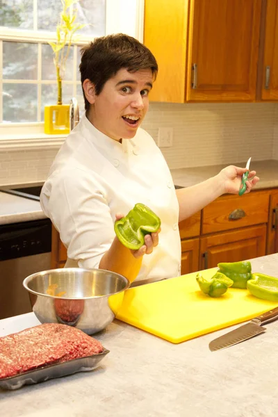
[[(278, 159), (277, 104), (150, 104), (142, 127), (157, 142), (163, 126), (174, 129), (161, 149), (171, 169)], [(0, 186), (44, 181), (57, 151), (0, 152)]]

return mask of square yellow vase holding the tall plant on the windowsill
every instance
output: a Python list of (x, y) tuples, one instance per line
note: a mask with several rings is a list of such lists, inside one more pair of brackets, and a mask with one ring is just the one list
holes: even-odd
[(70, 133), (70, 104), (44, 107), (44, 133), (49, 135)]

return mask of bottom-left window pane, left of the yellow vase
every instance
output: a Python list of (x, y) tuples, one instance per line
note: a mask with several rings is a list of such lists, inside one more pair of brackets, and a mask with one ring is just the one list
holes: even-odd
[(36, 84), (3, 83), (3, 122), (37, 121)]

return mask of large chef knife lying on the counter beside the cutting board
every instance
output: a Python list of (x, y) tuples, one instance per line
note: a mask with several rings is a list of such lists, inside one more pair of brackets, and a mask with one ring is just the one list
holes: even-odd
[(278, 307), (261, 314), (261, 316), (253, 318), (247, 325), (238, 327), (238, 329), (232, 330), (231, 332), (224, 334), (218, 338), (215, 338), (208, 347), (211, 352), (215, 350), (224, 349), (236, 343), (246, 341), (247, 339), (256, 336), (257, 334), (265, 332), (266, 328), (261, 327), (268, 322), (277, 320), (278, 318)]

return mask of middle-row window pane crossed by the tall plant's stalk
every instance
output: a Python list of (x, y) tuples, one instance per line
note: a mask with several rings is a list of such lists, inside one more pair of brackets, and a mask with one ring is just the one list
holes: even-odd
[[(56, 80), (56, 68), (54, 65), (54, 53), (49, 44), (42, 44), (42, 80)], [(72, 81), (74, 69), (74, 48), (70, 48), (70, 54), (65, 63), (65, 76), (63, 80)]]

